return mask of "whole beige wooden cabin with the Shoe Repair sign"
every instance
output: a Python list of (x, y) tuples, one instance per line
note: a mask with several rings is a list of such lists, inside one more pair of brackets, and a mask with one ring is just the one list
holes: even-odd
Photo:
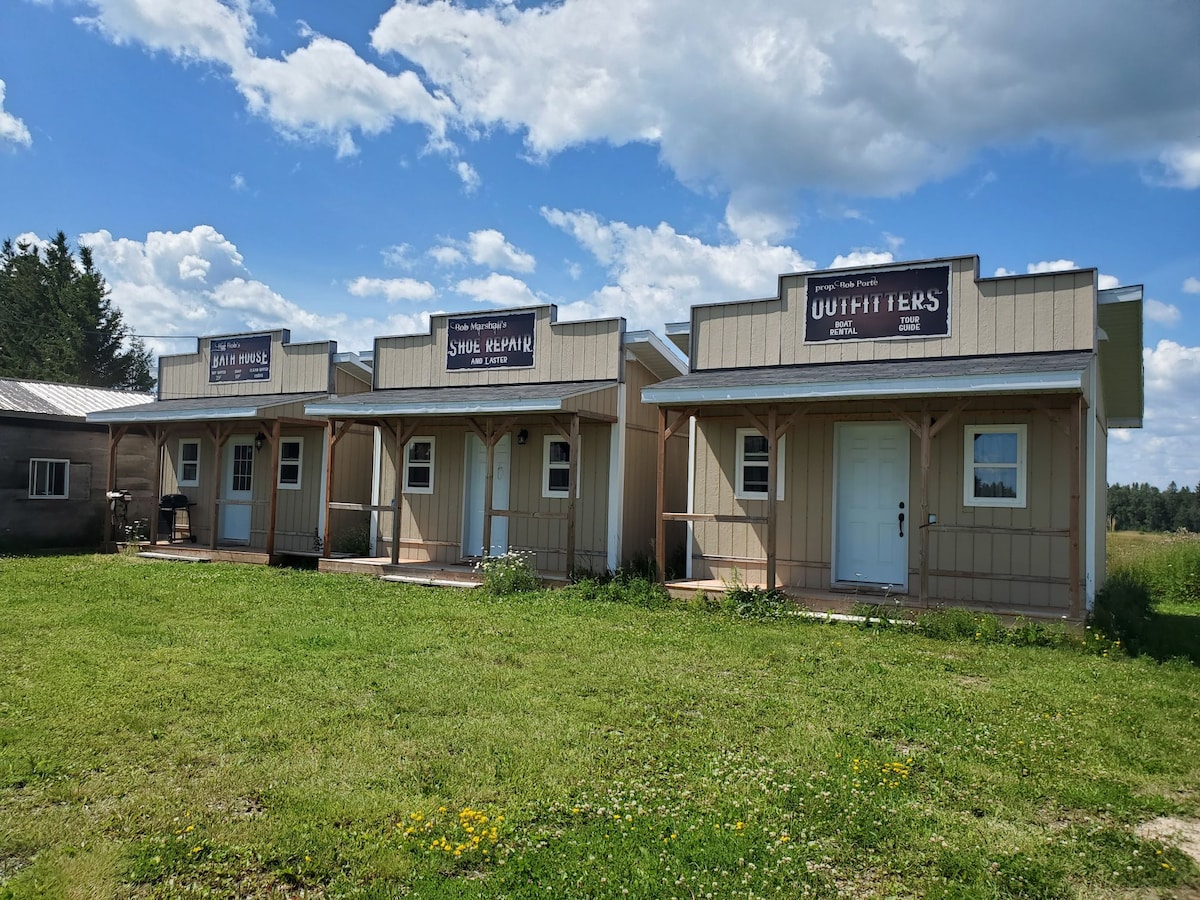
[[(370, 392), (305, 406), (330, 422), (330, 458), (347, 430), (376, 430), (372, 556), (412, 569), (522, 551), (546, 574), (653, 558), (656, 419), (641, 390), (684, 362), (624, 319), (556, 316), (432, 316), (428, 334), (376, 340)], [(680, 502), (684, 450), (666, 480)], [(346, 500), (329, 496), (326, 521)]]

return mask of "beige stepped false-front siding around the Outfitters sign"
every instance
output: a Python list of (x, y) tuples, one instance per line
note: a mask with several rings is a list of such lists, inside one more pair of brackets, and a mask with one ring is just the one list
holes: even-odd
[(695, 307), (694, 368), (1094, 349), (1094, 270), (977, 281), (974, 257), (937, 262), (950, 265), (948, 337), (806, 344), (808, 275), (788, 275), (778, 299)]

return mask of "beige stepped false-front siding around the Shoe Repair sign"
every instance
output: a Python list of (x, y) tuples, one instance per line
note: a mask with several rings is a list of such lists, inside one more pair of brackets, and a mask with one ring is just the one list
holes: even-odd
[(533, 368), (448, 371), (446, 322), (456, 317), (433, 316), (427, 335), (376, 338), (376, 388), (619, 379), (622, 319), (553, 323), (553, 307), (532, 312), (536, 314)]

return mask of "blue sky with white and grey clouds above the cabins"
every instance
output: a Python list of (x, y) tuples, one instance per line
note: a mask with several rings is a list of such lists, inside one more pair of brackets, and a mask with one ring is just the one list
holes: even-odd
[(1146, 287), (1146, 427), (1200, 484), (1189, 0), (5, 0), (0, 236), (132, 329), (368, 349), (557, 302), (661, 331), (779, 274), (973, 253)]

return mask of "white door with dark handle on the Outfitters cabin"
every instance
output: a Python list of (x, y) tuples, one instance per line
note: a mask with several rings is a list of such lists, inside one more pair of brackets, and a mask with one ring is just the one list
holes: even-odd
[(839, 422), (834, 443), (834, 581), (907, 590), (908, 428)]

